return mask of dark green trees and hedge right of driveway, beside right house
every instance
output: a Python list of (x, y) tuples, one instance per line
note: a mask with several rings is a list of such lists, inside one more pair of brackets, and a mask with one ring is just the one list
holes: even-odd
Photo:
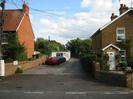
[(96, 55), (91, 51), (91, 40), (79, 38), (69, 41), (66, 48), (71, 51), (72, 57), (80, 58), (82, 68), (85, 72), (91, 73), (93, 70), (93, 61)]

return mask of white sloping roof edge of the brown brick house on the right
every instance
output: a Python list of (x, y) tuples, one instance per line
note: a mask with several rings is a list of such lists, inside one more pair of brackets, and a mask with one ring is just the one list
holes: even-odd
[(97, 34), (97, 32), (102, 31), (103, 29), (105, 29), (106, 27), (108, 27), (110, 24), (114, 23), (115, 21), (117, 21), (118, 19), (120, 19), (122, 16), (126, 15), (129, 11), (133, 11), (133, 8), (129, 8), (127, 11), (125, 11), (123, 14), (121, 14), (120, 16), (118, 16), (117, 18), (115, 18), (114, 20), (110, 21), (109, 23), (105, 24), (103, 27), (99, 28), (92, 36), (91, 38)]

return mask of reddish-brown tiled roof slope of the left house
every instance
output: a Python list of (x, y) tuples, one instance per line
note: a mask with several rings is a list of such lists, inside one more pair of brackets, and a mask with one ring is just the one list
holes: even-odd
[[(0, 11), (1, 14), (1, 11)], [(16, 31), (21, 20), (23, 19), (24, 12), (22, 9), (5, 10), (4, 11), (4, 31)]]

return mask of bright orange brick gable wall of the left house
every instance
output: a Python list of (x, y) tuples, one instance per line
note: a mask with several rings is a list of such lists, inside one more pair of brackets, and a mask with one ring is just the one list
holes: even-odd
[(34, 34), (28, 15), (24, 16), (17, 33), (19, 42), (24, 44), (27, 56), (28, 58), (31, 58), (34, 54)]

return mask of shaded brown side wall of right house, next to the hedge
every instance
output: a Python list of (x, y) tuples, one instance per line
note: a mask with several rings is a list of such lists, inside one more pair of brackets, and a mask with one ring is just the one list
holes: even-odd
[(102, 49), (102, 35), (101, 32), (98, 32), (95, 36), (92, 37), (92, 50), (96, 53)]

